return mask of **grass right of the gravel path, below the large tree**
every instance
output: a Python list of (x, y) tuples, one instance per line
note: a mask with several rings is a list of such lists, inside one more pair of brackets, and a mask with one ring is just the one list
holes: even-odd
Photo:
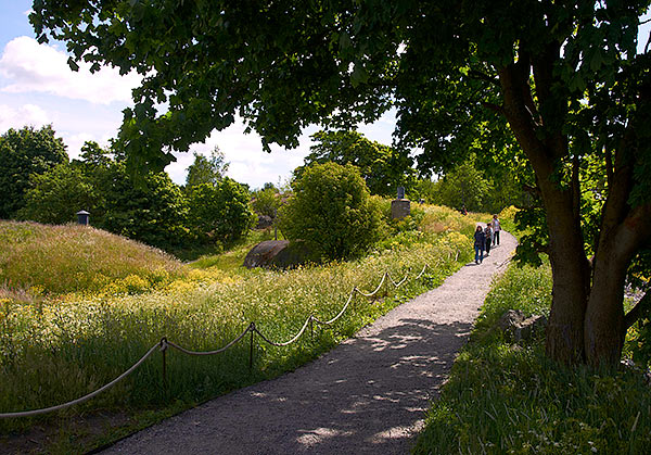
[(542, 338), (509, 344), (492, 329), (511, 308), (548, 313), (550, 293), (548, 266), (511, 266), (494, 286), (414, 453), (648, 453), (651, 388), (640, 372), (564, 368), (546, 358)]

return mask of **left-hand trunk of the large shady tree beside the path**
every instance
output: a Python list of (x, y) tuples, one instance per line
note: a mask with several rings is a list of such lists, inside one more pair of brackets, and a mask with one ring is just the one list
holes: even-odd
[[(550, 49), (550, 53), (558, 50)], [(552, 60), (550, 59), (549, 62)], [(552, 83), (551, 63), (537, 66), (536, 83), (539, 98), (549, 97)], [(574, 163), (570, 187), (558, 181), (556, 167), (567, 153), (566, 138), (561, 131), (539, 136), (544, 119), (537, 114), (529, 86), (529, 63), (521, 55), (499, 71), (503, 93), (502, 111), (518, 142), (527, 155), (547, 213), (549, 258), (552, 269), (552, 304), (547, 329), (547, 354), (565, 364), (584, 362), (584, 318), (587, 306), (590, 269), (580, 230), (578, 162)], [(554, 115), (566, 109), (559, 104)]]

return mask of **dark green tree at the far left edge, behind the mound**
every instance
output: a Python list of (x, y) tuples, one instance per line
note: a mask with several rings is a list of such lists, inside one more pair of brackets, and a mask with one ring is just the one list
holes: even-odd
[(12, 218), (24, 205), (31, 175), (44, 174), (68, 156), (52, 125), (25, 126), (0, 136), (0, 218)]

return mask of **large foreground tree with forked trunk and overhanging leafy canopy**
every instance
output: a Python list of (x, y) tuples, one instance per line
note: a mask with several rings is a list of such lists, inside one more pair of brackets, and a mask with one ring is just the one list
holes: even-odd
[[(531, 166), (546, 216), (549, 241), (529, 245), (553, 274), (547, 353), (615, 366), (639, 315), (624, 314), (627, 271), (651, 268), (640, 260), (651, 231), (649, 42), (636, 50), (649, 4), (37, 0), (30, 21), (41, 41), (67, 41), (72, 60), (148, 75), (120, 129), (132, 165), (163, 166), (237, 113), (266, 142), (295, 146), (309, 123), (346, 128), (393, 104), (400, 144), (435, 170), (467, 159), (462, 146), (480, 135), (499, 142), (509, 131), (519, 148), (493, 152)], [(588, 162), (607, 176), (590, 258)]]

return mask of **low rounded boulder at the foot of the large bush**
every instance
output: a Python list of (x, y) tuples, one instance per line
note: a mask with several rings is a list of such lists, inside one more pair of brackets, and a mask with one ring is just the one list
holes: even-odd
[(265, 240), (256, 244), (244, 257), (246, 268), (293, 268), (312, 260), (305, 242)]

